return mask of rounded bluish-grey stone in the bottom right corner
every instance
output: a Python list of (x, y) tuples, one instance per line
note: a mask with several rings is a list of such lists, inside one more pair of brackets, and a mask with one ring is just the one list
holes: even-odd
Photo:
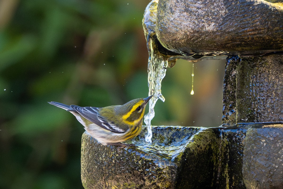
[(283, 188), (283, 125), (249, 128), (244, 145), (246, 188)]

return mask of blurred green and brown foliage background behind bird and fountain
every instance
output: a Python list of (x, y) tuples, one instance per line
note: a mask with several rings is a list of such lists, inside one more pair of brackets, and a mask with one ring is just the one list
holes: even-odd
[[(48, 101), (147, 97), (149, 1), (0, 0), (0, 188), (83, 188), (82, 125)], [(178, 60), (152, 125), (220, 126), (224, 60)], [(147, 112), (148, 110), (146, 110)]]

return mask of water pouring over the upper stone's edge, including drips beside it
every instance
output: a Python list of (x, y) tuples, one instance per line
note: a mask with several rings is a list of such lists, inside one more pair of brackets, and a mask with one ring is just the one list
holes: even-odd
[[(167, 67), (173, 67), (178, 58), (184, 58), (192, 63), (197, 62), (194, 58), (194, 53), (184, 54), (182, 52), (175, 53), (165, 49), (157, 40), (156, 33), (154, 32), (156, 26), (156, 12), (158, 0), (153, 0), (145, 9), (143, 19), (143, 29), (147, 39), (147, 49), (149, 53), (148, 58), (148, 87), (149, 95), (153, 97), (149, 100), (149, 112), (144, 117), (144, 122), (147, 126), (148, 133), (145, 136), (145, 141), (151, 143), (152, 131), (151, 120), (155, 116), (154, 107), (158, 99), (165, 101), (161, 93), (161, 81), (165, 77)], [(202, 57), (199, 55), (198, 57)], [(192, 73), (192, 77), (193, 77)], [(191, 94), (194, 91), (192, 90)]]

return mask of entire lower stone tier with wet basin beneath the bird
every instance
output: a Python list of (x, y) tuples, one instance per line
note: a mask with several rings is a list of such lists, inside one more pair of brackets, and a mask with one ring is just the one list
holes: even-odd
[(282, 124), (153, 127), (153, 144), (136, 137), (131, 147), (102, 146), (85, 132), (82, 183), (88, 189), (270, 188), (272, 180), (281, 188), (282, 138)]

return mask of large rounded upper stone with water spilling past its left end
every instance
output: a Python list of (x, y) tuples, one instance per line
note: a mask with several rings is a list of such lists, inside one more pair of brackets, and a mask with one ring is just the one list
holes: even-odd
[(159, 0), (155, 32), (179, 54), (283, 50), (283, 7), (258, 0)]

